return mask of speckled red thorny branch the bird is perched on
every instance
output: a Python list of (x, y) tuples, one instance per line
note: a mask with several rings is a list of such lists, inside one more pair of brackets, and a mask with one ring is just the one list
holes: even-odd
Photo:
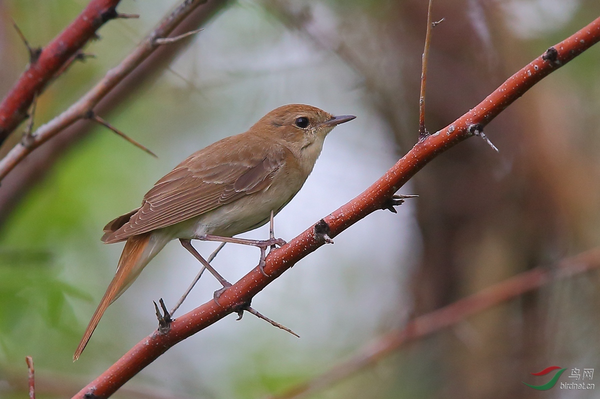
[[(370, 188), (323, 218), (323, 221), (319, 222), (321, 230), (328, 226), (329, 236), (335, 237), (358, 220), (382, 208), (392, 194), (436, 155), (466, 140), (476, 132), (481, 132), (484, 125), (535, 83), (598, 41), (600, 41), (600, 18), (512, 75), (484, 101), (454, 123), (416, 144)], [(109, 397), (131, 377), (179, 341), (214, 324), (229, 313), (243, 309), (250, 303), (254, 295), (323, 244), (324, 241), (314, 234), (314, 225), (310, 226), (280, 249), (272, 251), (267, 257), (264, 270), (269, 277), (260, 273), (258, 267), (254, 268), (221, 294), (220, 306), (211, 300), (175, 319), (166, 334), (155, 331), (137, 343), (108, 370), (79, 391), (74, 398), (83, 399), (86, 395)]]

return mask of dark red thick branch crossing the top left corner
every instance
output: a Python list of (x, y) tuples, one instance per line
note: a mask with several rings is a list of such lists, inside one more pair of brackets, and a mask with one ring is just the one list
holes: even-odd
[(91, 0), (88, 7), (41, 51), (37, 60), (30, 60), (13, 89), (0, 104), (0, 144), (27, 117), (34, 95), (41, 93), (61, 67), (88, 43), (95, 32), (117, 16), (116, 5), (121, 0)]

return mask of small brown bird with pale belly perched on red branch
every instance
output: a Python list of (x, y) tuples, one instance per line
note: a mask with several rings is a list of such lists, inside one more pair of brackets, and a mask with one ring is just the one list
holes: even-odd
[[(115, 277), (94, 312), (73, 356), (83, 352), (104, 311), (171, 240), (182, 245), (223, 284), (223, 277), (191, 246), (191, 240), (261, 248), (283, 240), (244, 240), (233, 235), (264, 225), (304, 185), (326, 135), (355, 116), (333, 116), (316, 107), (275, 108), (245, 133), (224, 138), (190, 155), (144, 195), (142, 206), (104, 227), (106, 244), (126, 241)], [(264, 273), (264, 272), (263, 272)]]

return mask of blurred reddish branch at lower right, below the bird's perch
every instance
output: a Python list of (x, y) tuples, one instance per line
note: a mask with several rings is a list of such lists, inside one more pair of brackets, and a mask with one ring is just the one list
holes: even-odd
[(542, 286), (600, 268), (600, 249), (592, 249), (564, 259), (555, 268), (538, 267), (490, 286), (470, 297), (409, 321), (406, 327), (390, 331), (359, 349), (355, 355), (320, 376), (287, 389), (271, 399), (297, 399), (321, 391), (366, 367), (377, 364), (409, 341), (456, 325), (493, 306), (509, 301)]

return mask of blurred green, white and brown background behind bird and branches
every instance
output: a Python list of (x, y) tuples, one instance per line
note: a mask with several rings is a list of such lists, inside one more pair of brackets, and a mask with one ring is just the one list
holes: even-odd
[[(43, 46), (84, 0), (0, 0), (0, 93), (32, 46)], [(175, 4), (123, 0), (122, 13), (40, 97), (36, 126), (65, 110), (121, 61)], [(335, 129), (302, 191), (275, 218), (290, 240), (380, 177), (418, 135), (427, 1), (239, 0), (212, 5), (205, 30), (116, 90), (100, 116), (158, 159), (105, 128), (80, 123), (0, 187), (0, 397), (70, 397), (157, 325), (152, 300), (173, 306), (199, 264), (173, 242), (113, 304), (79, 361), (71, 361), (112, 279), (122, 244), (106, 222), (139, 206), (161, 176), (197, 149), (249, 128), (272, 108), (301, 102), (355, 114)], [(438, 0), (427, 128), (454, 121), (512, 73), (600, 15), (597, 0)], [(303, 259), (257, 295), (254, 316), (230, 315), (183, 341), (116, 397), (263, 398), (317, 377), (367, 343), (508, 277), (600, 243), (600, 47), (545, 78), (486, 128), (500, 149), (472, 138), (434, 159), (403, 194), (398, 214), (377, 211)], [(137, 84), (137, 85), (136, 85)], [(4, 155), (22, 128), (0, 148)], [(37, 161), (34, 161), (37, 160)], [(38, 162), (28, 167), (31, 162)], [(318, 193), (318, 194), (317, 194)], [(268, 237), (263, 227), (245, 234)], [(201, 253), (215, 248), (198, 243)], [(227, 245), (214, 266), (228, 280), (259, 251)], [(550, 365), (600, 369), (599, 274), (545, 285), (391, 353), (313, 398), (593, 398), (542, 384)], [(200, 280), (178, 314), (212, 298)], [(177, 315), (176, 315), (177, 316)], [(599, 371), (600, 373), (600, 371)], [(538, 379), (535, 379), (538, 378)], [(595, 379), (600, 379), (596, 376)]]

